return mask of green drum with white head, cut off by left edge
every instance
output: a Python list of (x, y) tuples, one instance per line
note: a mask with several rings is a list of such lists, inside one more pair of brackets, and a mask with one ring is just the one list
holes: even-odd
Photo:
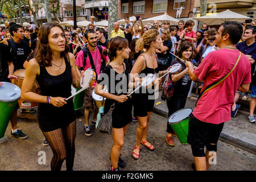
[(0, 86), (0, 138), (5, 135), (6, 128), (20, 98), (20, 88), (9, 82)]

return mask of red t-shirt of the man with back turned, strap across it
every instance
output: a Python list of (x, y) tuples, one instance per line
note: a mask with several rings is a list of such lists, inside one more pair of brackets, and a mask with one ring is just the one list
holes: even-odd
[[(204, 80), (201, 90), (226, 76), (234, 67), (238, 55), (237, 49), (229, 48), (210, 52), (193, 72), (199, 80)], [(229, 121), (234, 96), (241, 84), (251, 82), (250, 72), (250, 61), (241, 53), (241, 59), (234, 71), (221, 84), (199, 99), (193, 115), (207, 123), (220, 124)]]

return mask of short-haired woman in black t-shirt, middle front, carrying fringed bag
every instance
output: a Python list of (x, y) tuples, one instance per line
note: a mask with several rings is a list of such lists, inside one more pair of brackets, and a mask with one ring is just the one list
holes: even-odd
[[(110, 170), (118, 171), (119, 163), (122, 162), (119, 156), (123, 146), (123, 140), (129, 123), (132, 120), (132, 102), (131, 99), (127, 97), (128, 79), (131, 68), (129, 64), (123, 61), (129, 57), (130, 53), (128, 40), (121, 37), (111, 39), (108, 51), (106, 49), (104, 50), (104, 53), (106, 52), (108, 52), (110, 60), (112, 61), (101, 73), (95, 88), (95, 93), (106, 98), (104, 107), (105, 114), (108, 113), (110, 106), (117, 101), (112, 113), (112, 138), (114, 144), (110, 152), (112, 162)], [(122, 85), (120, 85), (120, 82)], [(104, 86), (107, 86), (108, 92), (104, 90)]]

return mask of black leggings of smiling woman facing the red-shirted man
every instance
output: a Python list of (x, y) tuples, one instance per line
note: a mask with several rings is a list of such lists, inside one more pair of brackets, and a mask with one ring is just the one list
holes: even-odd
[[(187, 97), (184, 98), (175, 98), (175, 96), (172, 96), (170, 100), (166, 100), (167, 107), (168, 107), (168, 118), (174, 114), (176, 111), (183, 109), (185, 107), (187, 101)], [(174, 130), (172, 130), (172, 127), (167, 122), (167, 133), (174, 133)]]

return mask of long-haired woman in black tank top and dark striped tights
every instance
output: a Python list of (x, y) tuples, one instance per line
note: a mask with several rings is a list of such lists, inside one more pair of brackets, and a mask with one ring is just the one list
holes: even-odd
[[(23, 99), (39, 102), (38, 122), (53, 152), (52, 171), (59, 171), (66, 159), (72, 171), (75, 158), (76, 116), (71, 96), (71, 84), (78, 87), (79, 75), (75, 57), (68, 53), (63, 28), (58, 23), (46, 23), (39, 31), (35, 59), (28, 62), (22, 85)], [(40, 95), (31, 92), (38, 81)]]

